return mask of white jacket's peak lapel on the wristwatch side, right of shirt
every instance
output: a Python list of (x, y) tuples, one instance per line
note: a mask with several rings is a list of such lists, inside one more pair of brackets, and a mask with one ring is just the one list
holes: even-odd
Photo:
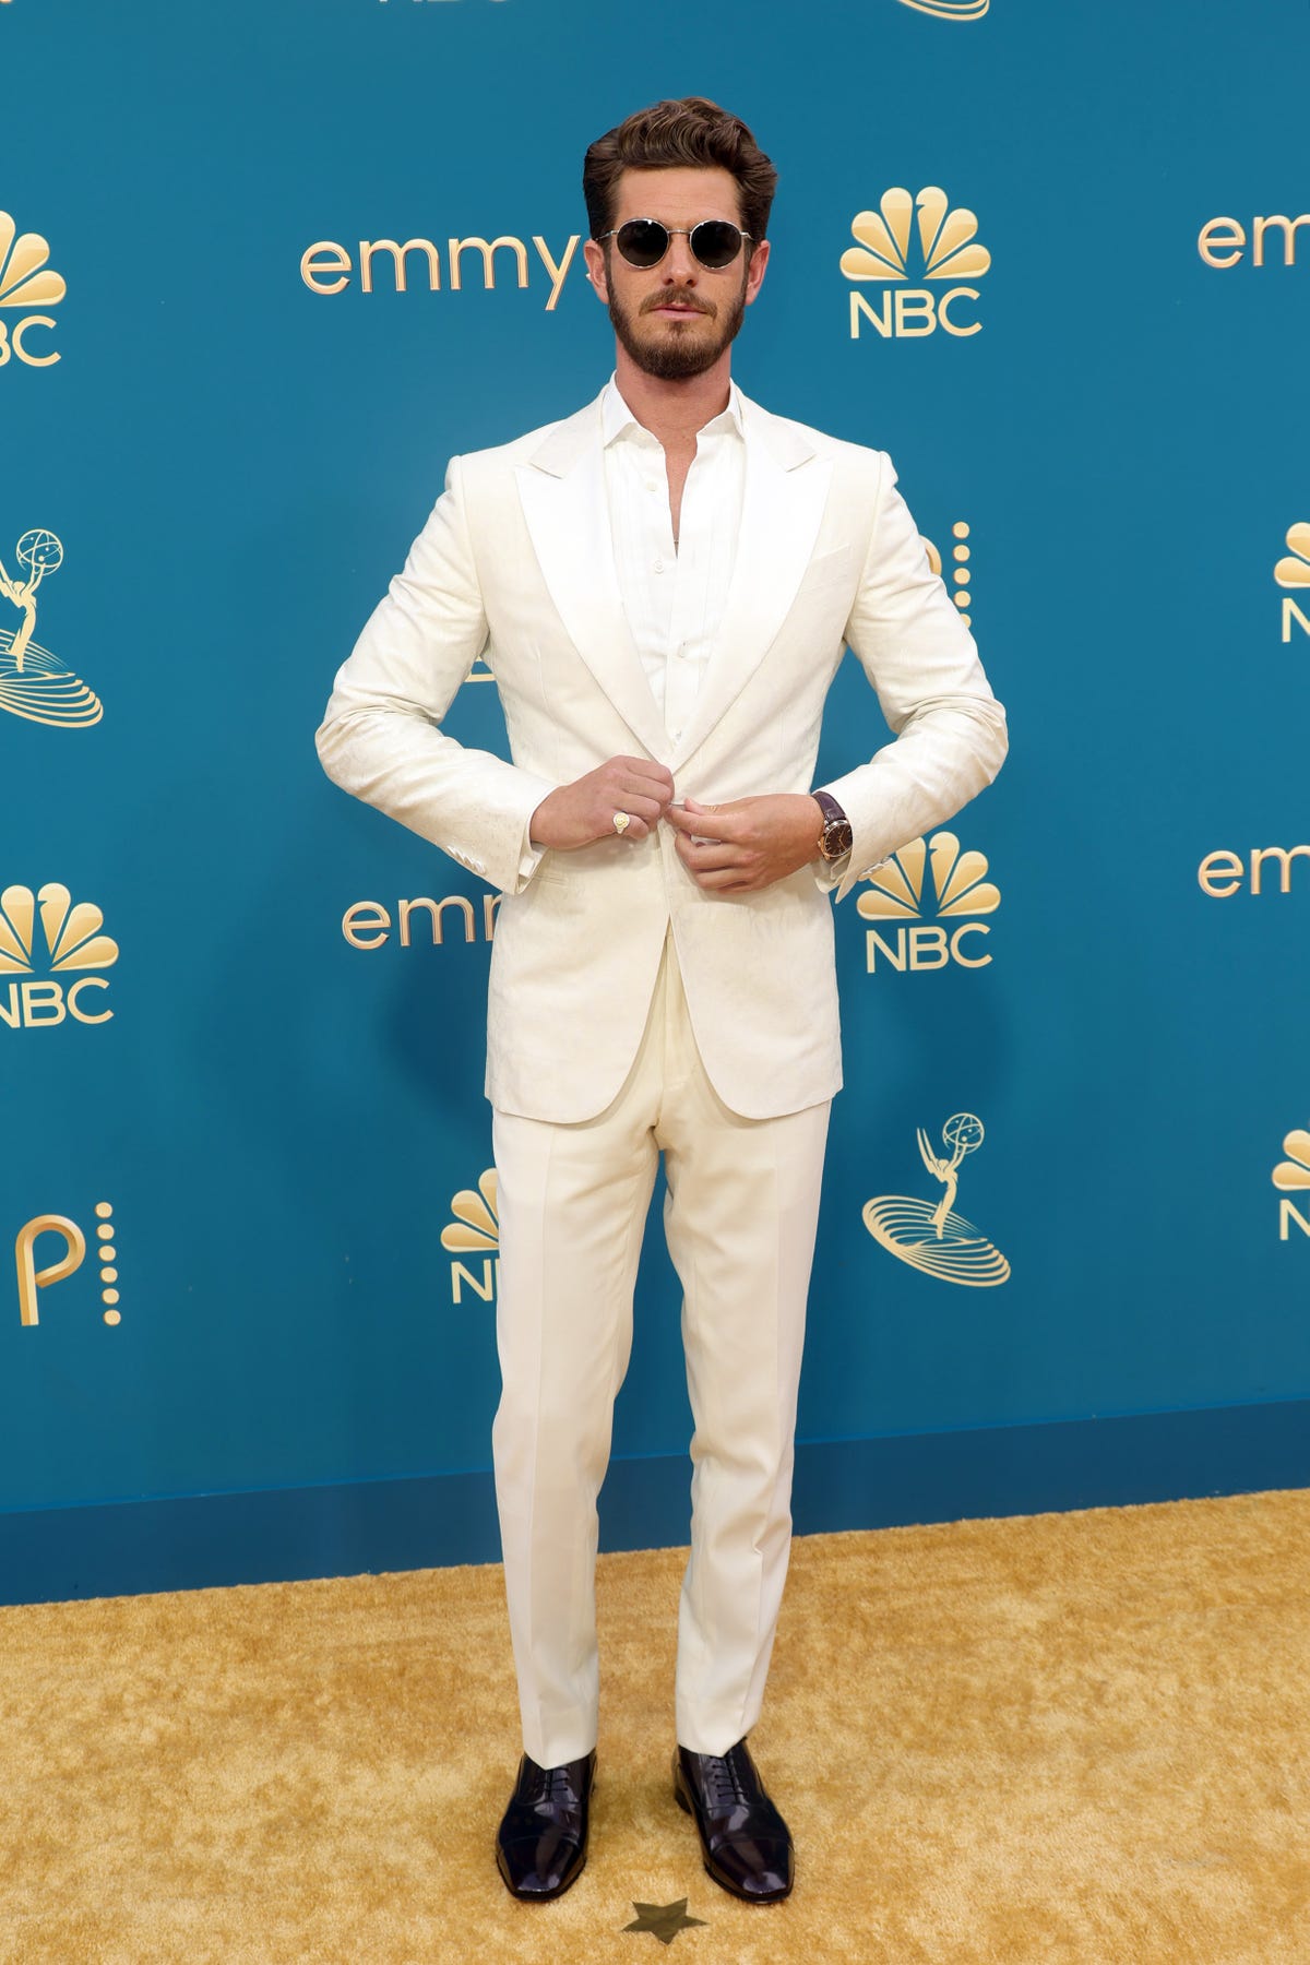
[(795, 424), (742, 397), (746, 483), (733, 584), (672, 768), (699, 749), (764, 660), (809, 566), (833, 468)]

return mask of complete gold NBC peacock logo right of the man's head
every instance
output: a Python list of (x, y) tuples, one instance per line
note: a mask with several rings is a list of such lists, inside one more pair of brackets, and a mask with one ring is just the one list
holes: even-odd
[[(978, 289), (962, 281), (982, 279), (992, 253), (978, 242), (978, 218), (966, 206), (951, 206), (939, 185), (911, 195), (901, 185), (884, 191), (876, 212), (856, 212), (850, 222), (856, 244), (846, 246), (841, 269), (858, 285), (876, 281), (878, 305), (864, 293), (850, 293), (850, 340), (858, 342), (868, 322), (884, 340), (911, 340), (945, 328), (956, 340), (978, 334), (980, 320), (966, 318), (964, 305), (978, 301)], [(945, 283), (945, 291), (901, 285), (913, 279)]]

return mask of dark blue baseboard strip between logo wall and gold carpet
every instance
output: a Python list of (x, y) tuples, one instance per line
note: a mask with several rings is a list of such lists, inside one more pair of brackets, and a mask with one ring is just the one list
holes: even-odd
[[(687, 1541), (683, 1456), (615, 1460), (603, 1548)], [(811, 1440), (797, 1535), (1310, 1488), (1310, 1399)], [(499, 1560), (491, 1474), (342, 1482), (0, 1515), (0, 1603)]]

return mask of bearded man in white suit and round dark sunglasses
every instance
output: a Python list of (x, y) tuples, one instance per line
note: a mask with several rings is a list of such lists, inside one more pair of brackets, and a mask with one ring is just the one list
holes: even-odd
[[(524, 1900), (558, 1896), (587, 1853), (595, 1501), (660, 1153), (695, 1415), (674, 1792), (717, 1882), (748, 1902), (791, 1888), (746, 1735), (788, 1568), (841, 1085), (827, 894), (951, 817), (1006, 751), (888, 460), (731, 381), (774, 185), (746, 126), (695, 96), (589, 147), (615, 375), (577, 415), (452, 462), (318, 733), (338, 784), (505, 892), (493, 1458), (524, 1755), (497, 1861)], [(811, 794), (843, 643), (896, 741)], [(483, 652), (513, 762), (438, 727)]]

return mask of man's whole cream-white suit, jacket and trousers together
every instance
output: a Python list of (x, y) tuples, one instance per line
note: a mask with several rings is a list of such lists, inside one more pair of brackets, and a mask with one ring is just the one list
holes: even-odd
[[(1004, 711), (888, 458), (744, 397), (740, 409), (733, 584), (678, 739), (619, 591), (599, 399), (452, 462), (318, 731), (338, 784), (505, 892), (487, 1006), (503, 1210), (497, 1489), (524, 1745), (546, 1767), (595, 1743), (595, 1493), (658, 1150), (697, 1419), (678, 1737), (723, 1753), (758, 1713), (841, 1085), (827, 888), (841, 898), (941, 825), (1006, 755)], [(841, 880), (807, 867), (764, 892), (701, 890), (668, 825), (534, 865), (536, 806), (609, 757), (650, 757), (678, 798), (703, 804), (807, 792), (845, 643), (896, 741), (827, 786), (854, 831)], [(513, 762), (440, 731), (481, 654)], [(678, 1114), (662, 1098), (674, 1079), (691, 1087)]]

